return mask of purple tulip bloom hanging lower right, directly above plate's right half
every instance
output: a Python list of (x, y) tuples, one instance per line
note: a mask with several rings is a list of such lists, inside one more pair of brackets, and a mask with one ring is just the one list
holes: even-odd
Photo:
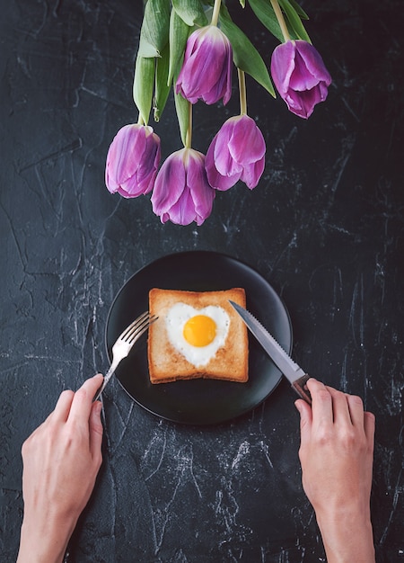
[(216, 190), (228, 190), (238, 180), (252, 190), (265, 167), (265, 140), (255, 121), (238, 115), (225, 121), (206, 153), (206, 174)]

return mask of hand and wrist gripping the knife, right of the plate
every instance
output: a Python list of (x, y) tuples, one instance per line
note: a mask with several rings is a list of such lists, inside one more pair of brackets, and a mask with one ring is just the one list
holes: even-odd
[(362, 399), (310, 379), (312, 407), (301, 416), (303, 488), (321, 530), (329, 563), (374, 561), (370, 519), (374, 416)]

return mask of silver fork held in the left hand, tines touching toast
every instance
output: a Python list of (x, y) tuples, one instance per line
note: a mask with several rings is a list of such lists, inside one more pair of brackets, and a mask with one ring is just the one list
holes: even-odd
[(117, 342), (112, 346), (112, 363), (110, 364), (110, 369), (105, 374), (101, 388), (96, 392), (92, 399), (93, 401), (96, 401), (100, 397), (114, 371), (117, 369), (119, 362), (127, 357), (127, 354), (132, 350), (132, 346), (157, 319), (158, 317), (150, 315), (149, 311), (145, 311), (145, 313), (137, 317), (133, 323), (127, 326), (123, 333), (119, 335)]

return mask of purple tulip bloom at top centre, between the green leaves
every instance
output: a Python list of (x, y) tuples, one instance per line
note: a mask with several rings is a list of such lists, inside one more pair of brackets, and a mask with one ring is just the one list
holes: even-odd
[(190, 103), (203, 100), (227, 103), (232, 95), (233, 49), (215, 25), (206, 25), (189, 36), (176, 92)]

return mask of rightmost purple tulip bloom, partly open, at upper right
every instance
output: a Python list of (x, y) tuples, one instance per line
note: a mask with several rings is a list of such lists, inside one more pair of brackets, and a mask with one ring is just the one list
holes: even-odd
[(271, 74), (289, 110), (304, 119), (327, 98), (331, 76), (321, 55), (303, 40), (286, 41), (272, 53)]

